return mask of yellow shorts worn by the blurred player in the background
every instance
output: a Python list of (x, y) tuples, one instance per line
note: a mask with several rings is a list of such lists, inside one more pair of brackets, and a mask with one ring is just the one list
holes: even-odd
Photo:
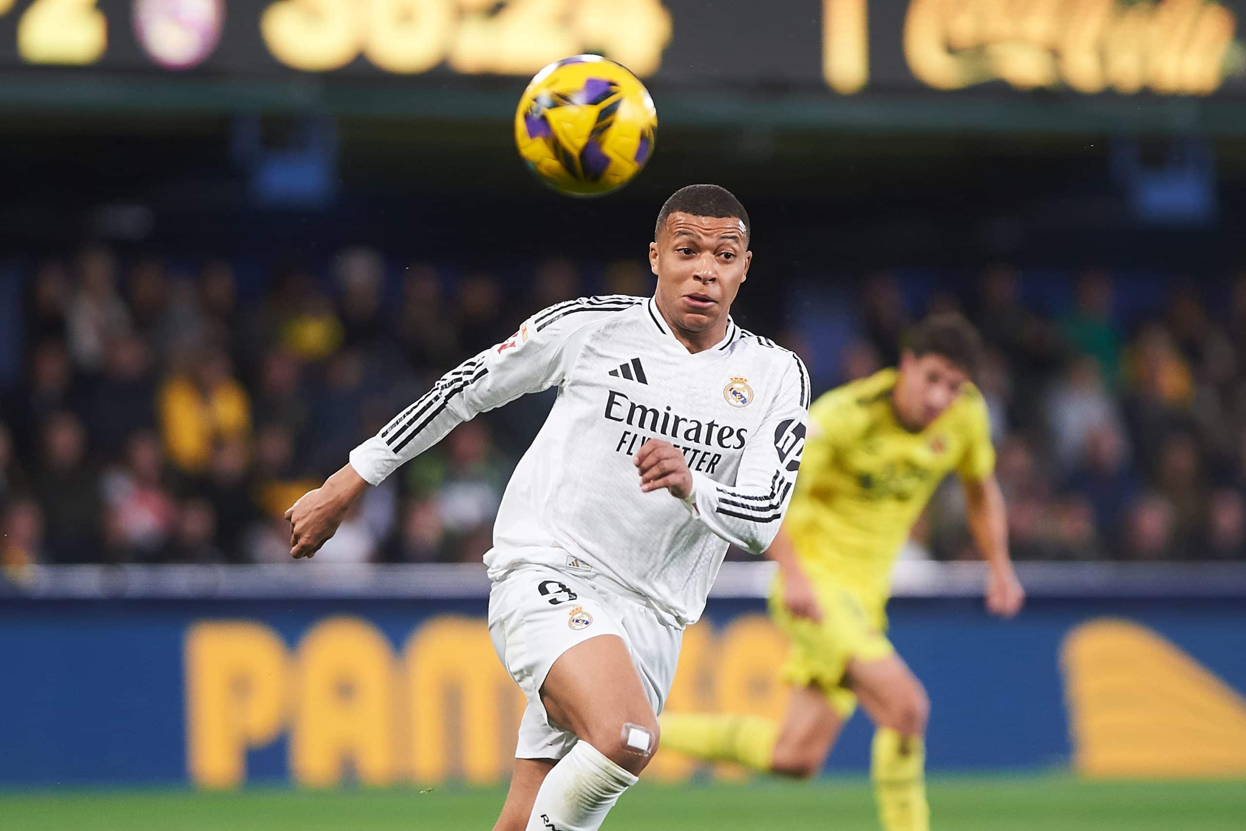
[(851, 592), (826, 579), (814, 579), (814, 591), (822, 607), (821, 623), (787, 612), (780, 577), (775, 576), (770, 588), (770, 617), (791, 638), (782, 680), (794, 686), (817, 684), (831, 708), (846, 719), (856, 709), (856, 695), (844, 686), (849, 662), (881, 660), (896, 649)]

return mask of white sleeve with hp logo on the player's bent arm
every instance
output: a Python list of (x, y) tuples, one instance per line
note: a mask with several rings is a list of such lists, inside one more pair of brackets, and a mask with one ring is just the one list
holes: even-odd
[(779, 533), (805, 449), (809, 375), (795, 355), (758, 435), (744, 449), (735, 482), (693, 472), (692, 505), (723, 539), (760, 554)]

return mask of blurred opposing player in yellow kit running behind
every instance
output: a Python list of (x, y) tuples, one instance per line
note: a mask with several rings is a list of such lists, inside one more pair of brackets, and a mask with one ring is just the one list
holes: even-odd
[(954, 472), (989, 563), (987, 609), (1012, 617), (1024, 592), (1008, 556), (987, 407), (971, 384), (981, 341), (959, 315), (922, 323), (886, 369), (831, 390), (809, 411), (791, 507), (766, 556), (779, 563), (770, 614), (791, 639), (781, 724), (749, 715), (668, 714), (665, 750), (814, 776), (857, 701), (875, 724), (871, 777), (886, 831), (927, 831), (930, 701), (887, 640), (896, 554), (934, 488)]

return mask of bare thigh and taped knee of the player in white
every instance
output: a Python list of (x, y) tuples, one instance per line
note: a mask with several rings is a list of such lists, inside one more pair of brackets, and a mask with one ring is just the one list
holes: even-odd
[(657, 750), (658, 718), (618, 635), (589, 638), (563, 652), (546, 675), (541, 701), (552, 721), (633, 772)]

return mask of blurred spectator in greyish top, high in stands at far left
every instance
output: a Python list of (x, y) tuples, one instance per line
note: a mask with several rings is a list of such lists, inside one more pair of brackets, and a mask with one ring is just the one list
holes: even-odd
[(103, 364), (108, 340), (130, 330), (130, 310), (117, 292), (117, 258), (102, 247), (78, 257), (78, 284), (66, 308), (70, 354), (86, 373)]

